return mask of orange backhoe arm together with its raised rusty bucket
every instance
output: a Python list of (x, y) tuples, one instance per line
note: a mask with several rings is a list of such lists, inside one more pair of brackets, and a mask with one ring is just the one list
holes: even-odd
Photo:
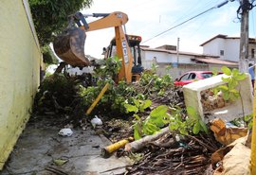
[[(86, 17), (101, 17), (87, 24)], [(117, 56), (121, 61), (118, 80), (132, 81), (133, 56), (122, 26), (128, 21), (128, 16), (123, 12), (113, 13), (93, 13), (84, 15), (77, 12), (69, 16), (69, 25), (64, 29), (63, 33), (56, 37), (53, 42), (53, 48), (57, 56), (72, 66), (88, 66), (91, 62), (85, 57), (84, 43), (86, 32), (114, 27), (115, 43), (117, 47)], [(74, 22), (77, 26), (74, 26)]]

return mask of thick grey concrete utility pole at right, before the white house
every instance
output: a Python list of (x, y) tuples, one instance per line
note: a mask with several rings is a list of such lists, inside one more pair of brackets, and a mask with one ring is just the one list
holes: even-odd
[(240, 0), (241, 13), (241, 31), (240, 31), (240, 54), (239, 71), (247, 72), (248, 69), (248, 11), (249, 1)]

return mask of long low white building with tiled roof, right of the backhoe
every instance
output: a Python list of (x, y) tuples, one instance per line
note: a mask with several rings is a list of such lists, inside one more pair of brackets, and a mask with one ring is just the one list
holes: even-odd
[[(238, 67), (234, 61), (222, 61), (219, 56), (177, 51), (175, 45), (162, 45), (156, 48), (141, 46), (141, 60), (144, 69), (151, 69), (157, 64), (159, 76), (170, 74), (174, 79), (191, 70), (219, 70), (223, 65)], [(171, 69), (166, 68), (170, 66)]]

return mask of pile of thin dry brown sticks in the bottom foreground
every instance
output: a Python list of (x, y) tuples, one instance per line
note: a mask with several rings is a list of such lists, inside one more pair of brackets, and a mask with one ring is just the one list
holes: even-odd
[(143, 159), (127, 168), (128, 174), (210, 174), (210, 155), (219, 145), (210, 135), (183, 137), (175, 141), (171, 133), (142, 150)]

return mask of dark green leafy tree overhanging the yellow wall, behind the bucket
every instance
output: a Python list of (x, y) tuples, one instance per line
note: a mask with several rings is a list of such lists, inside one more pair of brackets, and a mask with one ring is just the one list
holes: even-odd
[[(43, 58), (47, 64), (54, 63), (49, 45), (54, 36), (68, 24), (67, 16), (89, 8), (93, 0), (28, 0)], [(51, 59), (49, 57), (52, 57)]]

